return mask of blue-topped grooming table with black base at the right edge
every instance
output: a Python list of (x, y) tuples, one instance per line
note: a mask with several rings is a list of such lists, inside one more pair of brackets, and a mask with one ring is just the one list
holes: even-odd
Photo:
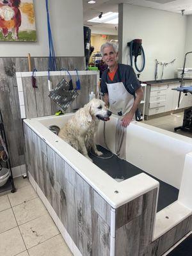
[[(177, 87), (177, 88), (173, 88), (172, 90), (175, 90), (177, 92), (186, 93), (186, 95), (187, 95), (187, 93), (192, 94), (192, 86)], [(190, 107), (184, 111), (184, 118), (183, 118), (182, 126), (178, 126), (178, 127), (174, 128), (174, 131), (177, 131), (177, 130), (192, 132), (192, 107)]]

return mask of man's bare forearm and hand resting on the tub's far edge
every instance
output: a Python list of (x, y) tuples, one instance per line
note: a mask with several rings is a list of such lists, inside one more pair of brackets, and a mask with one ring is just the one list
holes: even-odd
[(132, 117), (134, 116), (134, 113), (138, 109), (138, 106), (139, 106), (139, 104), (141, 102), (141, 99), (143, 99), (143, 90), (140, 87), (140, 88), (138, 88), (138, 90), (136, 90), (136, 98), (134, 99), (134, 104), (132, 105), (131, 110), (121, 120), (122, 121), (122, 125), (124, 127), (127, 127), (127, 125), (130, 124), (130, 122), (132, 120)]

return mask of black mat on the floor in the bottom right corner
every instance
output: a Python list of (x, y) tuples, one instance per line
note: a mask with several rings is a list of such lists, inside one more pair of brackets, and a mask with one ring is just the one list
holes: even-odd
[(182, 243), (180, 243), (167, 256), (191, 256), (192, 255), (192, 234), (189, 235)]

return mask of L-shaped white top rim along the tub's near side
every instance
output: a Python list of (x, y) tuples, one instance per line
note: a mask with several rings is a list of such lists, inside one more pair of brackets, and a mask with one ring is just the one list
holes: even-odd
[[(76, 172), (86, 180), (86, 182), (88, 182), (88, 184), (90, 184), (90, 186), (92, 186), (92, 188), (95, 189), (95, 191), (97, 191), (109, 205), (111, 205), (111, 207), (116, 209), (152, 189), (159, 189), (159, 182), (145, 173), (140, 173), (139, 175), (122, 182), (116, 182), (116, 180), (86, 159), (86, 157), (77, 152), (77, 150), (65, 143), (65, 141), (61, 140), (56, 134), (49, 131), (43, 124), (38, 122), (39, 120), (53, 117), (57, 118), (57, 116), (31, 118), (25, 119), (24, 123), (36, 132), (47, 145), (52, 147), (59, 156), (70, 164), (70, 166), (72, 166), (72, 168), (74, 168), (74, 170), (76, 170)], [(42, 136), (42, 134), (44, 134), (44, 136)], [(73, 157), (74, 155), (76, 158)], [(84, 166), (86, 166), (86, 170)], [(95, 173), (97, 173), (97, 175), (95, 175)], [(115, 191), (118, 191), (118, 193), (115, 193)]]

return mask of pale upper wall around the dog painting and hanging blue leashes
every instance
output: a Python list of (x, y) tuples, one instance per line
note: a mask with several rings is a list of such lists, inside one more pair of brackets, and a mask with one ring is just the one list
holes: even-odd
[[(37, 42), (0, 42), (0, 57), (49, 56), (45, 0), (33, 3)], [(84, 56), (83, 1), (49, 0), (49, 15), (56, 56)]]

